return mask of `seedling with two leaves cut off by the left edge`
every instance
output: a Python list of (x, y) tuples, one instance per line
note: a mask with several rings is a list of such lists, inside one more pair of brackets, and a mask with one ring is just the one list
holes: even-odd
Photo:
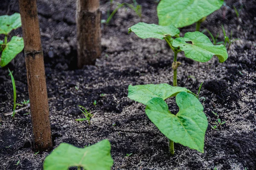
[(8, 42), (8, 34), (21, 26), (20, 14), (15, 13), (12, 15), (0, 16), (0, 34), (4, 34), (4, 40), (0, 40), (0, 67), (6, 66), (12, 59), (19, 54), (23, 48), (23, 38), (13, 36), (11, 41)]

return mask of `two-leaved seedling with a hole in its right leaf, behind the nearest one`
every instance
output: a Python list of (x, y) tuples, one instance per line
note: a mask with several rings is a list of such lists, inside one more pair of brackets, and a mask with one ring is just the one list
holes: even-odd
[[(187, 32), (180, 37), (180, 31), (175, 26), (158, 26), (155, 24), (137, 23), (129, 28), (128, 33), (134, 32), (140, 38), (157, 38), (165, 40), (174, 52), (172, 63), (173, 86), (177, 86), (177, 54), (184, 51), (185, 57), (198, 62), (207, 62), (212, 56), (217, 56), (219, 62), (228, 58), (224, 45), (213, 45), (209, 38), (201, 32)], [(174, 39), (175, 38), (175, 39)]]

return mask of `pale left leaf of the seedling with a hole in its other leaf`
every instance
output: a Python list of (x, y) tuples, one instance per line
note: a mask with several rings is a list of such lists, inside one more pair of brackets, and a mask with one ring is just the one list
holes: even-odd
[(133, 31), (140, 38), (180, 37), (180, 31), (175, 26), (158, 26), (156, 24), (137, 23), (129, 28), (128, 33)]

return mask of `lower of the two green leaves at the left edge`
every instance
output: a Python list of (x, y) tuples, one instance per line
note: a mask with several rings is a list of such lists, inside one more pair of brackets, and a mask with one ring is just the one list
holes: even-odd
[(4, 67), (15, 58), (24, 48), (23, 38), (13, 36), (3, 49), (0, 66)]

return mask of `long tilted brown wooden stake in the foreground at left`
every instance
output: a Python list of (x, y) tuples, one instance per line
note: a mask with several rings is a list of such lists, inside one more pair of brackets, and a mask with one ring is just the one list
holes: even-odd
[(52, 148), (36, 0), (19, 0), (35, 150)]

